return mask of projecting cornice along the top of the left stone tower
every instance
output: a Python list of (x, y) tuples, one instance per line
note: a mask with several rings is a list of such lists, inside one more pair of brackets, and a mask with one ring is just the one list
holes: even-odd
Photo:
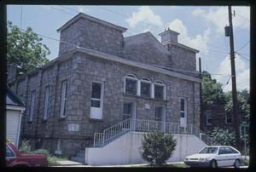
[(72, 25), (74, 22), (76, 22), (80, 19), (91, 20), (91, 21), (94, 21), (96, 23), (100, 23), (104, 26), (108, 26), (108, 27), (111, 27), (113, 29), (119, 30), (121, 32), (125, 32), (127, 30), (125, 27), (114, 25), (112, 23), (109, 23), (108, 21), (100, 20), (100, 19), (97, 19), (95, 17), (92, 17), (92, 16), (84, 14), (84, 13), (79, 13), (76, 16), (74, 16), (71, 20), (68, 20), (59, 29), (57, 29), (57, 32), (61, 32), (62, 30), (66, 29), (68, 26)]

